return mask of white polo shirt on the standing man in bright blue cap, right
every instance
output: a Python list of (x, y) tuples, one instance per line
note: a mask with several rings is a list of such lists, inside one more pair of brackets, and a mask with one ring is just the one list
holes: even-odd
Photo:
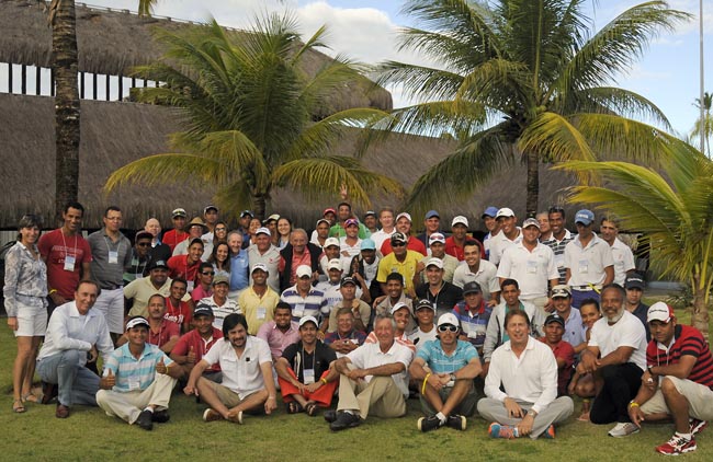
[(581, 246), (579, 236), (565, 247), (565, 268), (569, 268), (570, 287), (601, 285), (607, 278), (604, 268), (614, 265), (611, 247), (603, 239), (593, 236), (586, 247)]

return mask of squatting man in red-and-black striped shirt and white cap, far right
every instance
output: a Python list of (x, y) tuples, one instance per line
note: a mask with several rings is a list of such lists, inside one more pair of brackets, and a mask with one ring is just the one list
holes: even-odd
[(674, 419), (676, 432), (656, 447), (666, 455), (695, 451), (694, 435), (713, 419), (713, 357), (695, 327), (677, 324), (674, 309), (656, 302), (648, 309), (652, 340), (642, 385), (629, 403), (632, 421)]

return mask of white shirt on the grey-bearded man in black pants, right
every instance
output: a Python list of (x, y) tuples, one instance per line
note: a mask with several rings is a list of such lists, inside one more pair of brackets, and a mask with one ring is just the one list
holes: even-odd
[(588, 346), (598, 347), (602, 358), (621, 346), (633, 347), (634, 353), (627, 362), (635, 363), (642, 370), (646, 369), (646, 330), (638, 317), (626, 309), (614, 325), (609, 325), (607, 317), (597, 321), (591, 326)]

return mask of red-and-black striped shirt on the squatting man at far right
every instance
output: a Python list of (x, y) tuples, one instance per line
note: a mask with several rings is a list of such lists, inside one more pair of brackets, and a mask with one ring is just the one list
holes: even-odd
[(646, 347), (646, 365), (668, 366), (678, 363), (681, 356), (692, 356), (695, 365), (687, 379), (713, 390), (713, 358), (703, 335), (690, 325), (678, 324), (674, 331), (674, 344), (668, 348), (656, 340)]

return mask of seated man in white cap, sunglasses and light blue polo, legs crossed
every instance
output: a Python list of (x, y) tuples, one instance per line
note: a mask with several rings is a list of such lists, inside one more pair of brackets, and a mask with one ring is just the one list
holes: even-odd
[(428, 415), (418, 419), (418, 429), (429, 431), (448, 425), (465, 430), (466, 416), (473, 414), (477, 401), (473, 379), (480, 373), (480, 359), (473, 345), (459, 340), (455, 314), (439, 317), (438, 336), (419, 348), (408, 369), (411, 379), (422, 382), (421, 408)]

